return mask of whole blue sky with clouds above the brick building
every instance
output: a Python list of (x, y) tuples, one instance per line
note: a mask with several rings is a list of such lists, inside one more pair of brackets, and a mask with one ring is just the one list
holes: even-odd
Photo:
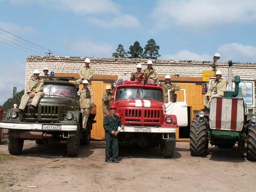
[(0, 0), (0, 105), (24, 89), (26, 56), (48, 49), (112, 57), (119, 44), (153, 38), (159, 59), (255, 62), (255, 34), (254, 0)]

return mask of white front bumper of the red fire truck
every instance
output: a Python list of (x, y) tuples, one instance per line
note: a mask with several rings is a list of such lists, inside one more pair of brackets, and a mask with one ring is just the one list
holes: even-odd
[(176, 133), (176, 127), (124, 126), (120, 132), (134, 133)]

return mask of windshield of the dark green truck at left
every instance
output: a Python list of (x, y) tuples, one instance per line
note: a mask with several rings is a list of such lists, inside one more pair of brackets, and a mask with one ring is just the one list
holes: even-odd
[(44, 95), (56, 95), (62, 97), (75, 97), (75, 88), (72, 86), (60, 86), (56, 84), (45, 84)]

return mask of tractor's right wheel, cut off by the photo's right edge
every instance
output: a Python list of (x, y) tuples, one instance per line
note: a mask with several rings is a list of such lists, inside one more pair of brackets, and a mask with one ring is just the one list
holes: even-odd
[(256, 161), (256, 129), (248, 127), (247, 159)]

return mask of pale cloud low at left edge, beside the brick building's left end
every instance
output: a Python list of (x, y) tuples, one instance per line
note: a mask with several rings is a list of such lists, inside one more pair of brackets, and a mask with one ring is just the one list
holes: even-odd
[(0, 63), (0, 71), (2, 71), (0, 78), (0, 105), (3, 105), (8, 98), (12, 97), (13, 87), (17, 87), (17, 92), (24, 90), (25, 66), (26, 63), (19, 61)]

